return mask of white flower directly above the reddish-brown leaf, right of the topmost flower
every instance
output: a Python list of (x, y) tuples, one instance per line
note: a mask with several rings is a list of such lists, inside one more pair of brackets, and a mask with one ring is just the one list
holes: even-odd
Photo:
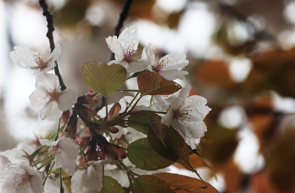
[(184, 80), (182, 75), (189, 74), (187, 71), (181, 71), (181, 69), (189, 64), (186, 60), (186, 55), (179, 52), (168, 54), (163, 57), (155, 57), (154, 52), (149, 49), (150, 45), (144, 47), (141, 55), (141, 59), (147, 59), (151, 62), (148, 66), (148, 70), (158, 73), (167, 80)]

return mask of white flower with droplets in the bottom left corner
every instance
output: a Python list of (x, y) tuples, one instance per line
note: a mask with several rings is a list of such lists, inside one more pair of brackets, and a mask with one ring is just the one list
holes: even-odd
[(38, 170), (20, 163), (0, 166), (1, 193), (43, 193), (42, 180)]

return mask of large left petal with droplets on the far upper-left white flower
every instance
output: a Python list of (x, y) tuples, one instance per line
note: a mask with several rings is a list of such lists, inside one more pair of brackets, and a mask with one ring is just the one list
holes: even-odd
[(26, 46), (14, 46), (13, 51), (9, 53), (10, 58), (22, 68), (31, 69), (38, 66), (34, 61), (34, 55), (39, 53), (31, 51)]

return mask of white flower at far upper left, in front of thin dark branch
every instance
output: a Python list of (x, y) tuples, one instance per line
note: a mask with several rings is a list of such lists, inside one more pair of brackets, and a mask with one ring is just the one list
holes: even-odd
[(55, 67), (55, 61), (61, 55), (61, 47), (56, 45), (54, 50), (46, 60), (45, 55), (31, 51), (26, 46), (14, 46), (13, 51), (9, 53), (10, 58), (14, 63), (22, 68), (40, 69), (40, 72), (48, 72)]

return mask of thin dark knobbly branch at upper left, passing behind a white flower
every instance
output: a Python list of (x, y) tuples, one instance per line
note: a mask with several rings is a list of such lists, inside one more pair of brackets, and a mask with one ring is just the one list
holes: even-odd
[[(43, 16), (46, 17), (47, 21), (47, 34), (46, 37), (49, 40), (49, 45), (50, 45), (50, 53), (54, 50), (55, 44), (54, 44), (54, 39), (53, 39), (53, 31), (54, 31), (54, 26), (53, 26), (53, 15), (49, 12), (48, 10), (48, 5), (46, 4), (45, 0), (39, 0), (39, 5), (43, 11)], [(64, 85), (64, 81), (61, 78), (61, 74), (59, 73), (58, 70), (58, 65), (57, 62), (55, 61), (56, 66), (54, 67), (54, 73), (57, 75), (59, 84), (61, 86), (61, 90), (63, 91), (67, 87)]]

